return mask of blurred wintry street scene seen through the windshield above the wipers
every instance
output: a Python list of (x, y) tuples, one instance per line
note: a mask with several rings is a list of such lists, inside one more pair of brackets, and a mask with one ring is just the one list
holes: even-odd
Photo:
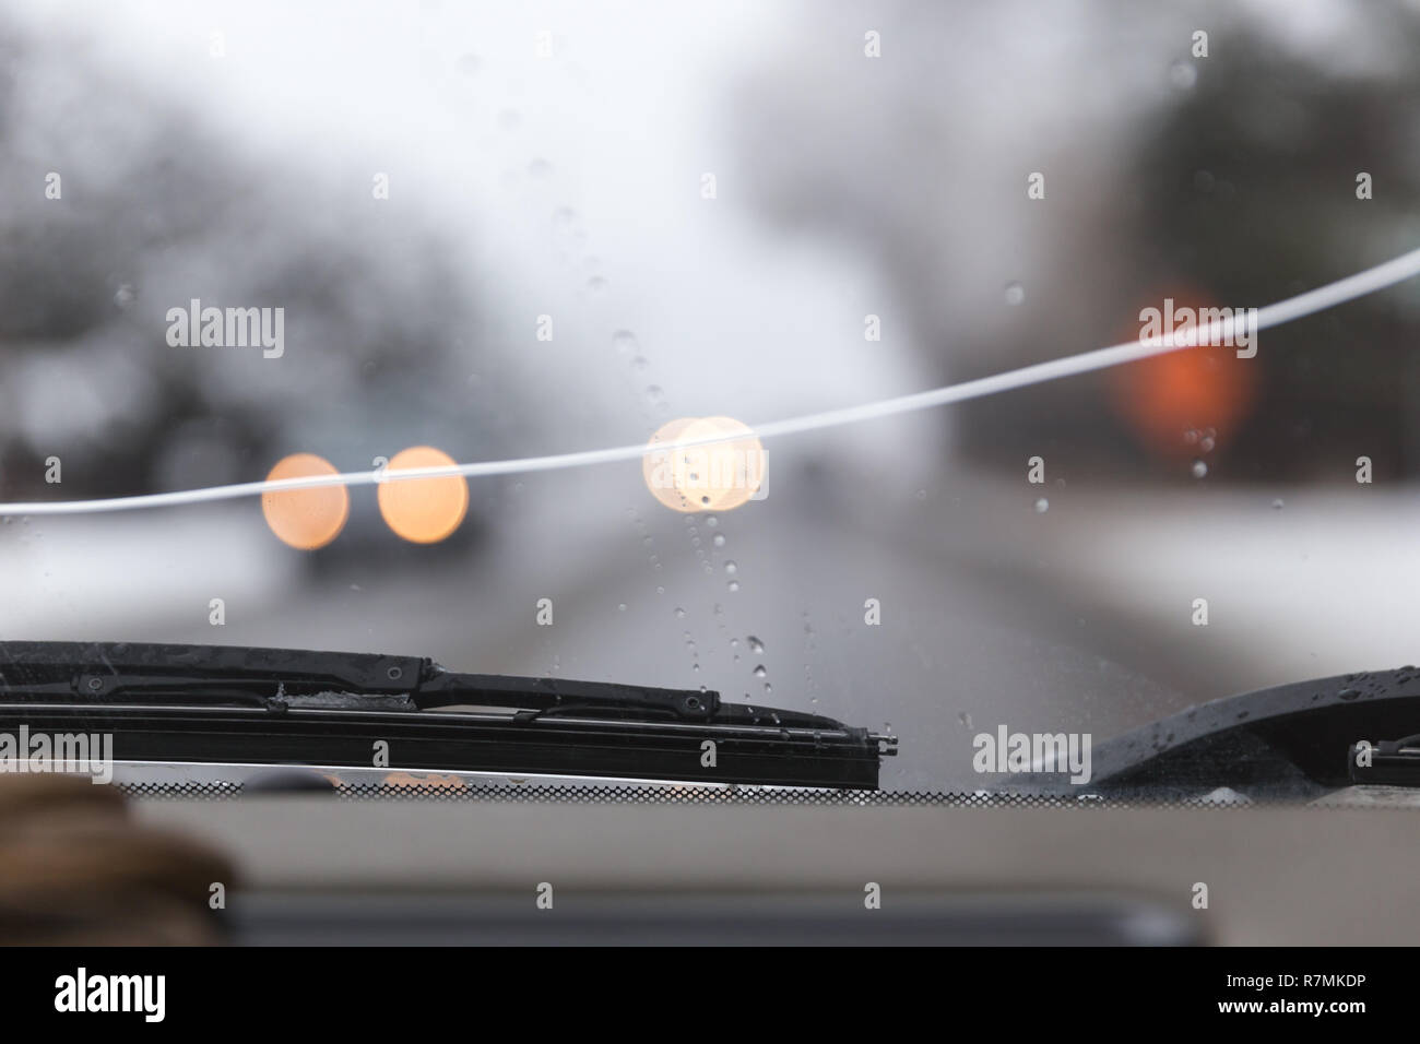
[[(1417, 54), (1399, 0), (13, 4), (0, 497), (640, 443), (1261, 307), (1420, 246)], [(192, 298), (284, 308), (284, 355), (169, 345)], [(257, 499), (16, 516), (0, 638), (704, 685), (974, 787), (998, 723), (1099, 740), (1420, 658), (1417, 331), (1410, 283), (1254, 359), (768, 440), (768, 496), (716, 514), (633, 462), (474, 479), (433, 544), (373, 487), (314, 551)]]

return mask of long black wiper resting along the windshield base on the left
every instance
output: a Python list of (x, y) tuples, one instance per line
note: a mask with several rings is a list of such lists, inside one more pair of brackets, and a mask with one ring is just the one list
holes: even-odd
[[(121, 761), (878, 787), (896, 737), (716, 692), (446, 670), (430, 659), (0, 642), (0, 729), (105, 732)], [(709, 744), (709, 746), (706, 746)]]

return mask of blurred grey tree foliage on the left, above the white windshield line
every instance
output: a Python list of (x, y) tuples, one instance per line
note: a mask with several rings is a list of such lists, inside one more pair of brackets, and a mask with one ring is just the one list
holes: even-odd
[[(0, 496), (53, 499), (51, 455), (68, 497), (98, 497), (260, 479), (294, 450), (358, 470), (420, 442), (513, 449), (466, 382), (488, 352), (460, 244), (365, 173), (216, 126), (80, 40), (0, 26)], [(169, 345), (193, 298), (284, 308), (285, 354)]]

